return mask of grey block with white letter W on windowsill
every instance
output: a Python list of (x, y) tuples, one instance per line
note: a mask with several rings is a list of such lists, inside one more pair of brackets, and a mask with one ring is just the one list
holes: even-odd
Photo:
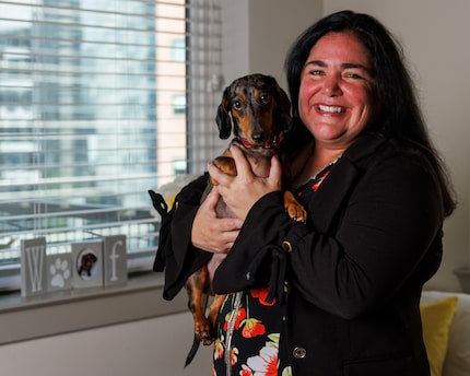
[(21, 295), (47, 293), (46, 238), (21, 240)]

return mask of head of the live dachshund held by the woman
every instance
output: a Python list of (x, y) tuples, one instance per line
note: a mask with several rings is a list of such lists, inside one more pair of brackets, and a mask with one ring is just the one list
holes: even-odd
[(291, 122), (291, 101), (274, 78), (245, 75), (225, 89), (215, 121), (221, 139), (233, 130), (246, 149), (275, 149)]

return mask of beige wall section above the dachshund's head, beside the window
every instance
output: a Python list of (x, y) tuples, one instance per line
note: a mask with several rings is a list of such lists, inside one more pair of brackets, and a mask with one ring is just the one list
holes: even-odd
[(248, 73), (265, 73), (275, 77), (285, 89), (285, 55), (297, 35), (321, 16), (321, 1), (222, 0), (222, 3), (225, 83)]

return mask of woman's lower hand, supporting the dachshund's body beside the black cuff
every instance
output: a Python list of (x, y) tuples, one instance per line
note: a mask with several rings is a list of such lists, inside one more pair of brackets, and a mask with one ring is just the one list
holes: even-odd
[(220, 197), (218, 187), (213, 187), (199, 207), (191, 230), (192, 245), (213, 254), (228, 252), (243, 225), (238, 219), (218, 219), (215, 205)]

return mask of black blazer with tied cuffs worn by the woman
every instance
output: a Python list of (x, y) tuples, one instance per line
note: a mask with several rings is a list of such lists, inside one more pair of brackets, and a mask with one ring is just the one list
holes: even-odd
[[(189, 246), (196, 210), (183, 202), (175, 211), (179, 261), (173, 286), (208, 256)], [(430, 375), (419, 303), (423, 283), (440, 263), (444, 213), (424, 154), (407, 142), (363, 136), (331, 169), (307, 212), (307, 224), (293, 223), (281, 192), (261, 198), (216, 270), (214, 290), (268, 282), (272, 295), (282, 297), (277, 282), (285, 275), (291, 291), (283, 296), (283, 343), (294, 375)]]

